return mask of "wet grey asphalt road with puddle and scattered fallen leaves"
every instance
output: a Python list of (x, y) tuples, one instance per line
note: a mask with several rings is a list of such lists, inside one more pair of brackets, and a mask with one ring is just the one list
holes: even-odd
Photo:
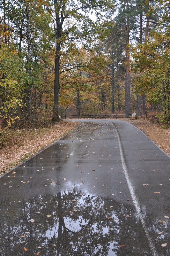
[(1, 177), (0, 255), (170, 255), (170, 158), (125, 121), (82, 121)]

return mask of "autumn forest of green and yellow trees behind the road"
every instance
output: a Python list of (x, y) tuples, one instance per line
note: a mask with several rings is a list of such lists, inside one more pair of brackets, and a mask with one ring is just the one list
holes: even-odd
[(169, 123), (167, 0), (1, 0), (0, 127), (155, 110)]

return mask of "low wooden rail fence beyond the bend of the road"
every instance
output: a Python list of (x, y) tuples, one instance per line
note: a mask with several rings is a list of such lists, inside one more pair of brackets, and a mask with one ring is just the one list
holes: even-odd
[(130, 114), (117, 114), (117, 113), (115, 113), (115, 114), (85, 114), (85, 115), (80, 115), (80, 116), (78, 116), (78, 115), (64, 115), (63, 116), (63, 118), (83, 118), (83, 117), (87, 117), (87, 118), (89, 118), (89, 117), (91, 117), (91, 118), (98, 118), (98, 117), (100, 117), (100, 118), (115, 118), (115, 119), (117, 119), (117, 118), (129, 118), (130, 116), (132, 116), (132, 113), (130, 113)]

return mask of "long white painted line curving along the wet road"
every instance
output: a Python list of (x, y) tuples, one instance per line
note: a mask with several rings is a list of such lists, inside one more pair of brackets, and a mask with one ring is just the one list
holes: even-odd
[[(115, 124), (113, 122), (112, 122), (112, 124), (115, 126)], [(142, 226), (143, 226), (143, 229), (144, 229), (144, 232), (145, 232), (145, 236), (148, 239), (148, 243), (149, 243), (152, 255), (153, 256), (159, 256), (158, 252), (156, 251), (156, 249), (155, 249), (155, 247), (154, 247), (154, 245), (152, 243), (152, 239), (151, 239), (151, 237), (148, 234), (148, 230), (147, 230), (146, 224), (144, 222), (144, 218), (143, 218), (142, 213), (141, 213), (141, 208), (140, 208), (139, 200), (137, 198), (137, 195), (135, 194), (135, 191), (133, 189), (132, 183), (131, 183), (129, 175), (128, 175), (128, 169), (127, 169), (127, 166), (126, 166), (126, 162), (125, 162), (125, 158), (124, 158), (124, 154), (123, 154), (123, 150), (122, 150), (122, 143), (121, 143), (121, 139), (120, 139), (120, 136), (119, 136), (119, 133), (118, 133), (118, 130), (117, 130), (116, 126), (115, 126), (115, 129), (116, 129), (116, 133), (117, 133), (117, 137), (118, 137), (118, 142), (119, 142), (119, 149), (120, 149), (120, 155), (121, 155), (121, 160), (122, 160), (122, 167), (123, 167), (123, 169), (125, 171), (124, 174), (125, 174), (125, 177), (126, 177), (126, 181), (127, 181), (128, 187), (129, 187), (129, 191), (130, 191), (130, 194), (131, 194), (134, 206), (136, 208), (136, 211), (137, 211), (137, 214), (139, 216), (139, 219), (140, 219), (140, 221), (142, 223)]]

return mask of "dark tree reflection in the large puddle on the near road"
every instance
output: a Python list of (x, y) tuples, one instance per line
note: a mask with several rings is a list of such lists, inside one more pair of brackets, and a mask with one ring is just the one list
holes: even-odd
[(134, 208), (111, 198), (73, 190), (13, 199), (1, 219), (2, 256), (151, 255)]

